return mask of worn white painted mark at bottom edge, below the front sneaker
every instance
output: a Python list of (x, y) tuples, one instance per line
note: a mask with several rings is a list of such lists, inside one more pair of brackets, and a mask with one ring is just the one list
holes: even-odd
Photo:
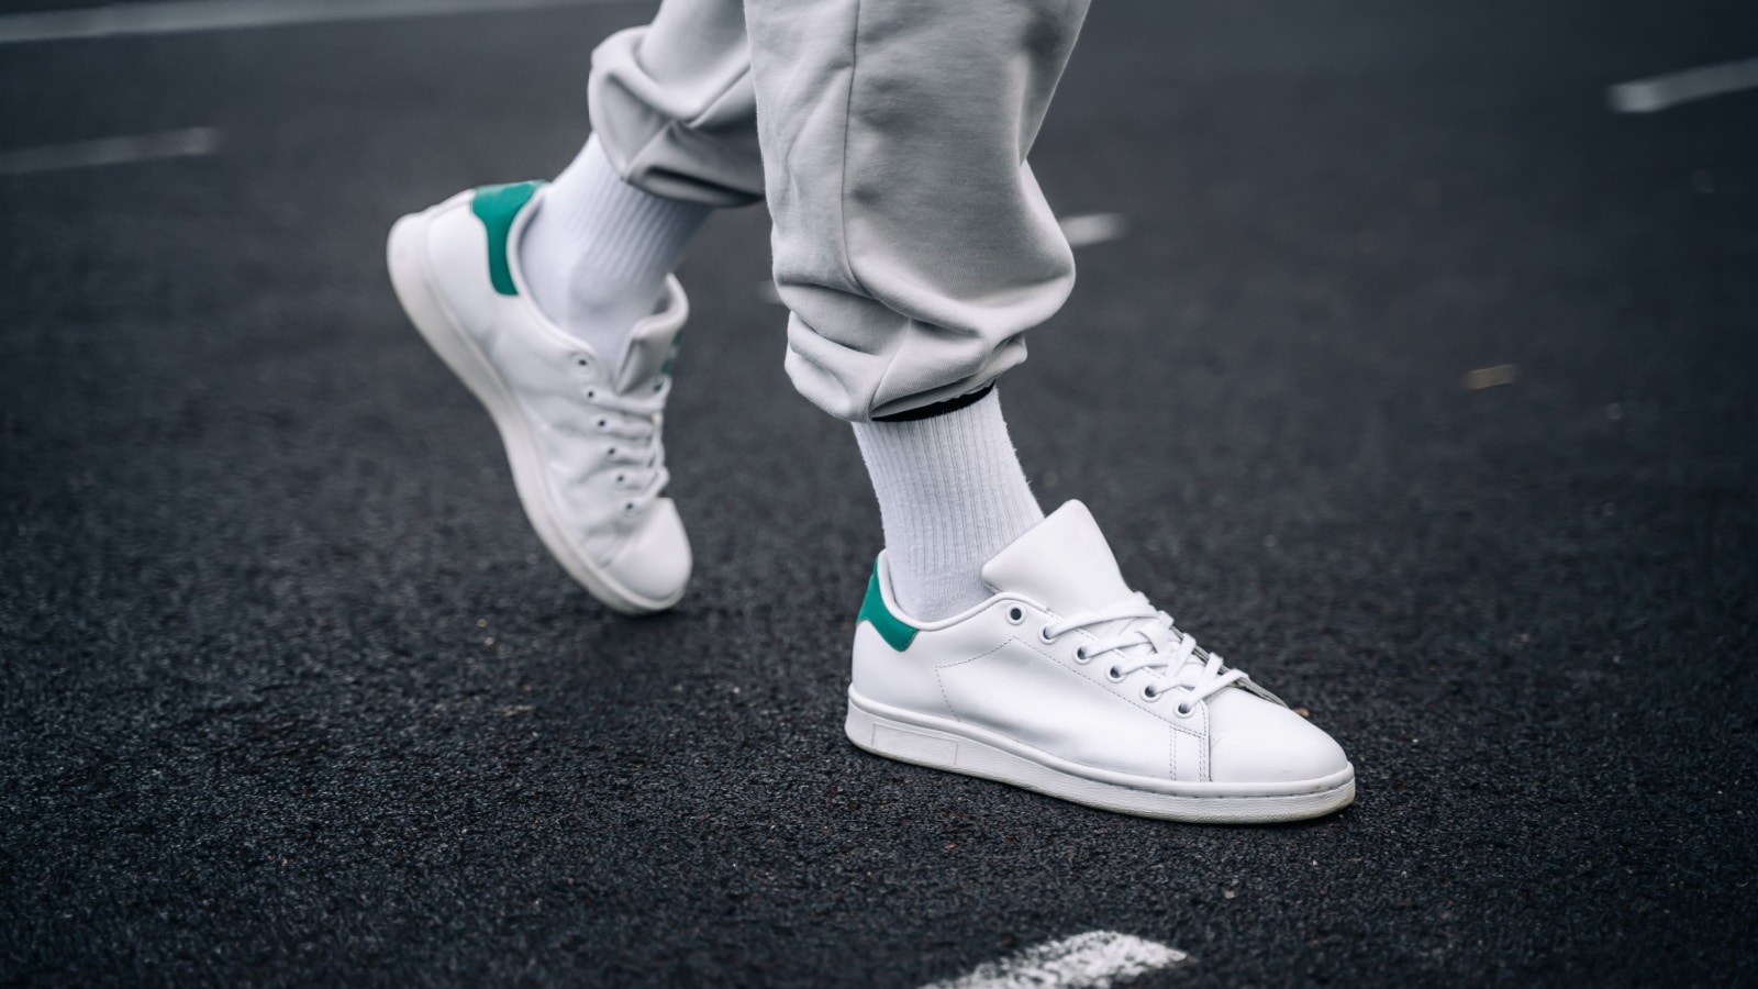
[(1116, 931), (1088, 931), (979, 964), (969, 975), (921, 989), (1106, 989), (1171, 968), (1190, 956)]

